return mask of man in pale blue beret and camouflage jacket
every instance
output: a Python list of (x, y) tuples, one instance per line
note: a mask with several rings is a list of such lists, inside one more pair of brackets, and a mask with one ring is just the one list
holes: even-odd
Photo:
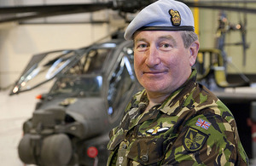
[(110, 134), (108, 165), (247, 165), (230, 110), (195, 83), (199, 42), (183, 3), (159, 0), (125, 31), (143, 91)]

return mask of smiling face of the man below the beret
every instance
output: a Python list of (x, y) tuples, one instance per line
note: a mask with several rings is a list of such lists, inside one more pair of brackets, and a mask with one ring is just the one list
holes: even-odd
[[(194, 45), (194, 50), (192, 45)], [(184, 48), (180, 31), (137, 31), (134, 67), (139, 83), (154, 94), (171, 94), (191, 73), (199, 44)]]

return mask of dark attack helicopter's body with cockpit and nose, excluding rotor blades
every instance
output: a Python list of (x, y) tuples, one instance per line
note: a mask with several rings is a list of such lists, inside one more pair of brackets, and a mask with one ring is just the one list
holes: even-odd
[(82, 49), (34, 55), (11, 94), (57, 79), (23, 125), (21, 161), (106, 164), (108, 132), (119, 124), (126, 103), (140, 89), (132, 61), (132, 43), (114, 37)]

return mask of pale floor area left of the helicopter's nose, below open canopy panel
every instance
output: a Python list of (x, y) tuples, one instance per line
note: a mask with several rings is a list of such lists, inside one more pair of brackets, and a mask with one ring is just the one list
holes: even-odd
[(24, 166), (17, 147), (22, 136), (22, 124), (32, 117), (36, 95), (45, 92), (44, 87), (9, 96), (10, 90), (0, 91), (0, 165)]

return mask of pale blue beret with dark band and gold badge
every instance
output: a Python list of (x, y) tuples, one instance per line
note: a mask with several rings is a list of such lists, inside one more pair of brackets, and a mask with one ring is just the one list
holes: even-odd
[(131, 40), (135, 31), (194, 31), (194, 17), (187, 5), (174, 0), (151, 3), (131, 21), (125, 39)]

